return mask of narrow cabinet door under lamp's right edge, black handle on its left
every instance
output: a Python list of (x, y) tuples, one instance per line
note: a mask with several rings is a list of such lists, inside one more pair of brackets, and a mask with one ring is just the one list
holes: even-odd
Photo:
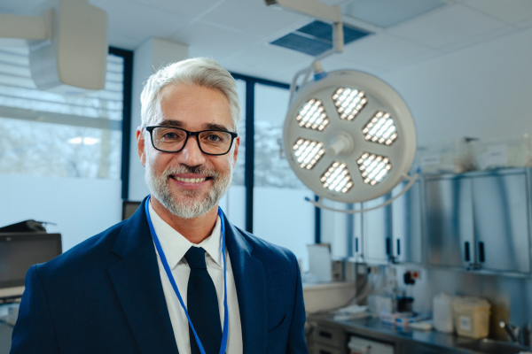
[[(400, 183), (392, 196), (396, 196), (407, 182)], [(421, 263), (421, 182), (415, 181), (411, 189), (391, 204), (392, 253), (395, 261)]]

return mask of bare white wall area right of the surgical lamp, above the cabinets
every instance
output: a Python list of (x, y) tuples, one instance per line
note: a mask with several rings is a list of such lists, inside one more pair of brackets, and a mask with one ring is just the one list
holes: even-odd
[(532, 133), (532, 29), (380, 75), (411, 108), (419, 144)]

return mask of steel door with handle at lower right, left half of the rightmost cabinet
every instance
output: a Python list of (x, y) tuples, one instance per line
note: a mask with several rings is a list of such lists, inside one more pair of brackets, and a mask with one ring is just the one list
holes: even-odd
[(442, 266), (474, 264), (471, 181), (460, 177), (427, 179), (425, 204), (428, 262)]

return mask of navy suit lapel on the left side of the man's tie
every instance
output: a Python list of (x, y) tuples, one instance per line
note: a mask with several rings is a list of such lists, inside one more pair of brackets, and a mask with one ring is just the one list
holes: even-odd
[(112, 250), (122, 259), (108, 273), (140, 351), (177, 354), (145, 203), (122, 227)]

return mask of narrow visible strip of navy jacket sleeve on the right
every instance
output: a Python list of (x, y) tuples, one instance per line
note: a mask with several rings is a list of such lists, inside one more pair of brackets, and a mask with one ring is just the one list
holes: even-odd
[(303, 302), (303, 288), (301, 284), (300, 267), (295, 256), (293, 261), (296, 268), (295, 301), (293, 304), (293, 317), (286, 343), (286, 353), (308, 354), (307, 343), (305, 342), (305, 304)]

